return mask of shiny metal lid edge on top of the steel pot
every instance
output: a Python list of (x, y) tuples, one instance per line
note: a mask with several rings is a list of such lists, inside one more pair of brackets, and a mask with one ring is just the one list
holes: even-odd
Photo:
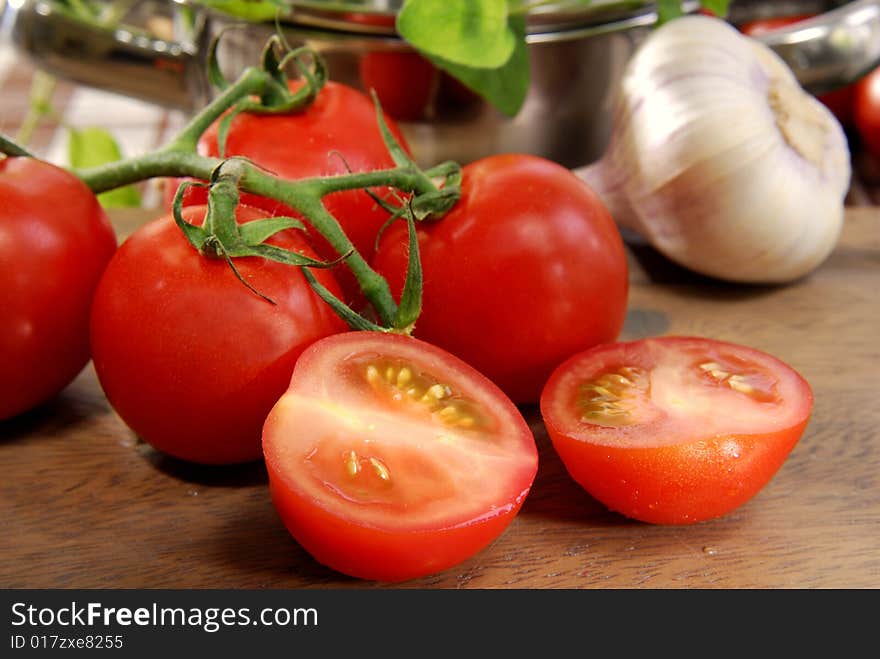
[[(403, 4), (404, 0), (292, 0), (286, 20), (342, 32), (393, 35), (394, 19)], [(641, 0), (593, 0), (586, 5), (572, 0), (546, 2), (529, 13), (527, 31), (536, 35), (636, 18), (653, 20), (655, 5)]]

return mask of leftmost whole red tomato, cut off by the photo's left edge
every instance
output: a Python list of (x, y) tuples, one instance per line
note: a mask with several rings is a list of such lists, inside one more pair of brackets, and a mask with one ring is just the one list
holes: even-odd
[(0, 420), (47, 401), (88, 363), (89, 307), (115, 250), (82, 181), (47, 162), (0, 157)]

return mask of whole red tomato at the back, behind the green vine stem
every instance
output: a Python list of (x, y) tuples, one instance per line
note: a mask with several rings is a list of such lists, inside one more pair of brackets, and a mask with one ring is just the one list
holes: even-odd
[[(300, 84), (292, 81), (290, 86), (297, 89)], [(385, 119), (392, 134), (406, 148), (403, 135), (393, 119), (387, 116)], [(201, 154), (218, 156), (217, 131), (218, 124), (215, 123), (202, 135), (199, 141)], [(247, 156), (274, 175), (286, 179), (394, 166), (379, 131), (373, 101), (366, 94), (333, 81), (328, 81), (314, 103), (301, 112), (238, 115), (229, 129), (225, 155)], [(206, 199), (207, 193), (203, 189), (192, 188), (184, 203), (202, 204)], [(242, 203), (263, 208), (272, 215), (295, 215), (290, 208), (273, 199), (245, 194)], [(388, 219), (388, 213), (363, 190), (337, 192), (328, 195), (324, 203), (361, 255), (369, 259), (376, 234)], [(337, 256), (320, 234), (313, 231), (311, 237), (315, 250), (323, 258)], [(336, 274), (349, 300), (360, 300), (359, 287), (348, 269), (339, 268)]]

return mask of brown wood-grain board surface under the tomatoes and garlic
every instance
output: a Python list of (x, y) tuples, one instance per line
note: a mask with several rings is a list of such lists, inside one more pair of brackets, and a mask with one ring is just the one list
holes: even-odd
[[(115, 217), (121, 235), (144, 219)], [(540, 467), (519, 516), (465, 563), (396, 587), (880, 587), (880, 209), (850, 209), (831, 258), (789, 286), (703, 279), (635, 242), (630, 254), (624, 338), (745, 343), (811, 383), (813, 417), (788, 461), (726, 517), (651, 526), (584, 493), (525, 407)], [(278, 520), (261, 464), (198, 467), (139, 442), (91, 366), (0, 423), (0, 468), (0, 587), (385, 587), (312, 560)]]

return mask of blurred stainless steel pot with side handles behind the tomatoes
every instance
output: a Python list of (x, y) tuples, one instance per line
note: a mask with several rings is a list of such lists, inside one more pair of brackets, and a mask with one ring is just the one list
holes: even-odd
[[(211, 90), (204, 75), (207, 44), (233, 21), (186, 0), (141, 0), (141, 16), (163, 12), (173, 34), (84, 25), (46, 0), (0, 0), (0, 29), (39, 66), (72, 80), (165, 106), (192, 111)], [(655, 22), (654, 3), (596, 0), (586, 8), (549, 3), (528, 22), (532, 83), (522, 110), (504, 117), (482, 99), (434, 70), (394, 31), (402, 0), (330, 4), (294, 0), (281, 23), (288, 41), (309, 45), (326, 58), (331, 77), (364, 88), (375, 71), (403, 72), (383, 99), (417, 159), (469, 162), (493, 152), (527, 152), (569, 167), (604, 151), (611, 100), (621, 72)], [(691, 9), (696, 3), (691, 4)], [(734, 1), (730, 19), (819, 13), (817, 18), (762, 37), (801, 83), (823, 92), (857, 79), (880, 63), (880, 0), (856, 2)], [(227, 75), (257, 61), (272, 24), (227, 30), (220, 57)], [(369, 75), (373, 71), (372, 77)], [(381, 86), (381, 84), (379, 85)], [(383, 90), (380, 91), (380, 99)]]

